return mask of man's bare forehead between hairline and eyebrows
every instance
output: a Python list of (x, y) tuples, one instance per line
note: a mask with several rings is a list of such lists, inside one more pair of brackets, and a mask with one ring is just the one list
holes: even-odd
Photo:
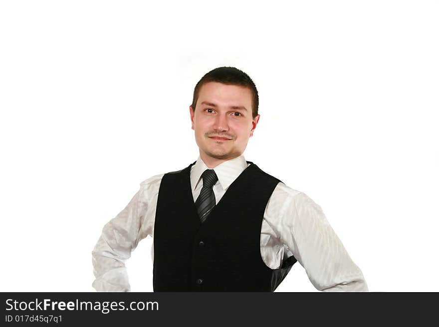
[(218, 82), (205, 83), (198, 94), (197, 104), (208, 101), (219, 106), (244, 106), (251, 108), (252, 94), (247, 87)]

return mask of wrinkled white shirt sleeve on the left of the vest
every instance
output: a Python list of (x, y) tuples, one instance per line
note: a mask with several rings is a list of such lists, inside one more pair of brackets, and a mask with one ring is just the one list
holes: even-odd
[(140, 183), (139, 191), (115, 218), (108, 221), (93, 251), (92, 286), (98, 292), (129, 292), (125, 262), (140, 240), (153, 235), (155, 207), (161, 177)]

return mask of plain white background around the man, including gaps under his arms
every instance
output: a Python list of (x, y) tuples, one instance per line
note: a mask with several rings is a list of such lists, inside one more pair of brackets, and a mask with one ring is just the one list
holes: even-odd
[[(439, 2), (160, 3), (1, 1), (0, 291), (94, 291), (103, 225), (197, 159), (189, 106), (220, 66), (259, 92), (245, 158), (322, 207), (369, 290), (439, 291)], [(299, 263), (295, 291), (317, 291)]]

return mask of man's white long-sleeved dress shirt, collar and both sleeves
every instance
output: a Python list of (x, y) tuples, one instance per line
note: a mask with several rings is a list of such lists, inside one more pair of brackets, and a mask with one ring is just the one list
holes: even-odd
[[(216, 203), (248, 165), (241, 155), (213, 168), (218, 176), (213, 187)], [(191, 167), (194, 202), (203, 187), (201, 175), (206, 169), (210, 168), (200, 157)], [(140, 240), (148, 235), (154, 237), (157, 199), (163, 175), (140, 183), (140, 190), (125, 209), (105, 224), (92, 251), (96, 277), (92, 286), (97, 291), (130, 291), (125, 261)], [(279, 268), (282, 260), (294, 255), (319, 291), (368, 291), (360, 268), (350, 258), (320, 206), (306, 194), (283, 183), (277, 184), (265, 207), (260, 251), (263, 261), (271, 269)], [(151, 258), (154, 263), (154, 242)]]

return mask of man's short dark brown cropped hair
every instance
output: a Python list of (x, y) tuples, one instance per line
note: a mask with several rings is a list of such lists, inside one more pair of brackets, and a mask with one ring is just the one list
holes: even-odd
[(257, 109), (259, 107), (259, 97), (257, 95), (256, 85), (254, 85), (251, 78), (243, 71), (235, 67), (219, 67), (211, 70), (197, 83), (194, 89), (194, 98), (192, 99), (192, 109), (195, 112), (197, 106), (198, 95), (201, 87), (208, 82), (219, 82), (228, 85), (237, 85), (249, 88), (252, 93), (252, 115), (253, 118), (257, 116)]

